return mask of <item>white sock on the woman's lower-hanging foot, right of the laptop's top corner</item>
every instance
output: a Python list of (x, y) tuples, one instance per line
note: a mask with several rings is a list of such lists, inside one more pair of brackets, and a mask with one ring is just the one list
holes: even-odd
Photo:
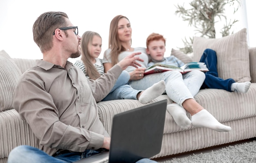
[(189, 120), (189, 117), (186, 115), (186, 110), (179, 104), (168, 104), (167, 111), (171, 114), (176, 124), (181, 128), (188, 129), (191, 126), (191, 120)]

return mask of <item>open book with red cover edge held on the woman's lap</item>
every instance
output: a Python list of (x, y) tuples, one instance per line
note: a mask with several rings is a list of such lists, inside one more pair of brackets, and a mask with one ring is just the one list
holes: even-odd
[(183, 65), (182, 67), (165, 65), (162, 63), (155, 63), (154, 65), (148, 67), (145, 70), (144, 75), (153, 74), (157, 72), (165, 72), (165, 71), (178, 71), (178, 72), (181, 72), (182, 74), (185, 74), (186, 72), (190, 72), (192, 70), (200, 70), (202, 72), (209, 71), (204, 62), (190, 62)]

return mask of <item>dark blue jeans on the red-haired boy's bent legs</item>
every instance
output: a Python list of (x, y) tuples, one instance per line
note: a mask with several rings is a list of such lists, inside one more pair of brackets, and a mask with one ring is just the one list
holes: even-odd
[(204, 62), (209, 69), (205, 73), (205, 80), (202, 84), (201, 89), (205, 88), (214, 88), (214, 89), (224, 89), (231, 92), (231, 84), (235, 83), (235, 80), (232, 78), (222, 79), (218, 77), (217, 72), (217, 55), (214, 50), (206, 49), (202, 54), (200, 62)]

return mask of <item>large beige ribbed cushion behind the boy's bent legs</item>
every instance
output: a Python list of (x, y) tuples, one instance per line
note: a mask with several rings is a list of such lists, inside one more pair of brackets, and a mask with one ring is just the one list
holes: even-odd
[(216, 51), (220, 78), (233, 78), (237, 82), (250, 81), (249, 50), (246, 35), (246, 28), (243, 28), (237, 33), (218, 39), (194, 37), (193, 61), (198, 62), (204, 50), (210, 48)]

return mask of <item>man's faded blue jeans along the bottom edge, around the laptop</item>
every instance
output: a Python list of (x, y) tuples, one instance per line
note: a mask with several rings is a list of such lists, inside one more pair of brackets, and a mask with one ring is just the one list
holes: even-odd
[[(99, 150), (85, 150), (85, 152), (67, 152), (65, 154), (57, 154), (56, 156), (50, 156), (31, 146), (18, 146), (11, 150), (7, 163), (73, 163), (85, 157), (89, 157), (92, 154), (102, 152)], [(136, 163), (157, 163), (150, 159), (141, 159)]]

